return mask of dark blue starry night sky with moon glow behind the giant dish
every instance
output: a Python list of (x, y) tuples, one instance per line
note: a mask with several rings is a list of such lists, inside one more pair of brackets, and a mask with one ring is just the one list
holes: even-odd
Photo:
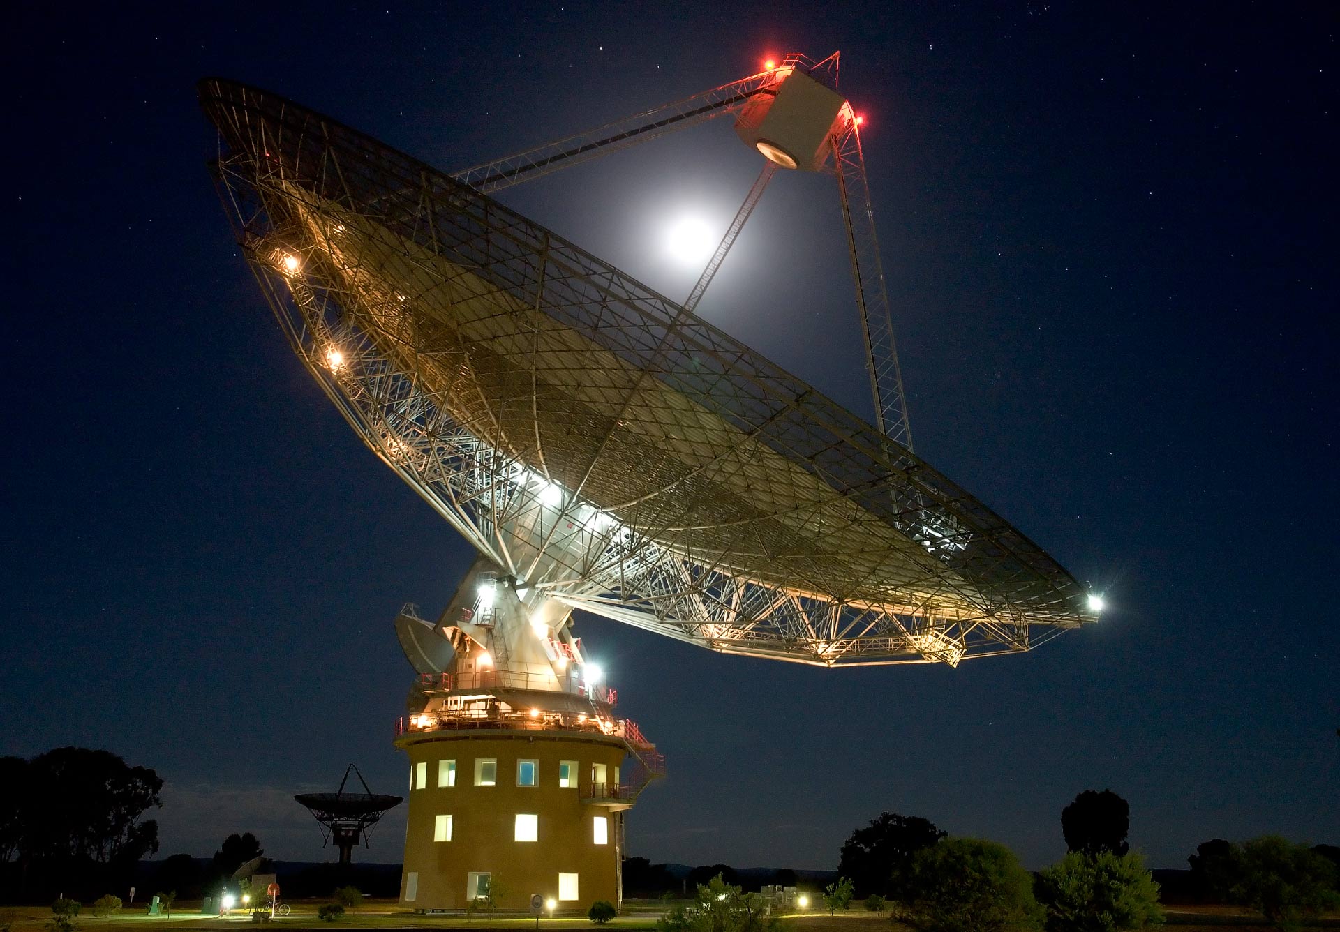
[[(894, 810), (1041, 866), (1104, 787), (1155, 866), (1213, 837), (1340, 844), (1340, 19), (1162, 7), (11, 11), (0, 753), (157, 769), (161, 856), (252, 830), (320, 860), (291, 794), (350, 761), (405, 789), (391, 621), (436, 617), (470, 553), (288, 350), (205, 167), (198, 78), (457, 170), (840, 48), (917, 450), (1111, 608), (958, 670), (582, 619), (669, 758), (628, 853), (833, 868)], [(760, 165), (716, 121), (501, 200), (683, 296), (667, 225), (720, 232)], [(773, 182), (699, 312), (871, 416), (831, 178)], [(393, 813), (356, 857), (402, 840)]]

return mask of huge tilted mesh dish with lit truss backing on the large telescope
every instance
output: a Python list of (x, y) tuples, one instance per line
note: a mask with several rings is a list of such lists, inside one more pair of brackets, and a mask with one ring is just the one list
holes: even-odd
[(201, 100), (293, 350), (517, 578), (717, 651), (823, 666), (957, 664), (1095, 620), (981, 502), (623, 272), (283, 98), (208, 80)]

